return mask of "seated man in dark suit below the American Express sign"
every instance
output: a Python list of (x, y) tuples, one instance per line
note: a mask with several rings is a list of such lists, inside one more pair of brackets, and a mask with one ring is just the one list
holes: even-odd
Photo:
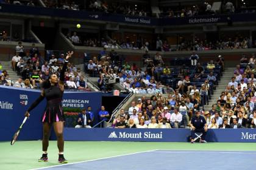
[(81, 127), (91, 128), (90, 114), (87, 114), (85, 109), (82, 109), (82, 112), (78, 114), (77, 125), (75, 126), (75, 128)]

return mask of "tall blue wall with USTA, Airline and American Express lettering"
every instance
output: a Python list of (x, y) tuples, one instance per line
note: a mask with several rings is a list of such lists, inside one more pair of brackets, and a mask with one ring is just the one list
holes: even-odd
[[(24, 114), (31, 103), (40, 95), (40, 90), (20, 89), (15, 87), (0, 87), (0, 141), (12, 139), (13, 134), (23, 121)], [(96, 121), (101, 106), (99, 92), (65, 92), (62, 100), (63, 107), (87, 107), (93, 109)], [(43, 100), (30, 112), (30, 118), (23, 126), (19, 140), (38, 140), (42, 137), (41, 115), (46, 100)]]

